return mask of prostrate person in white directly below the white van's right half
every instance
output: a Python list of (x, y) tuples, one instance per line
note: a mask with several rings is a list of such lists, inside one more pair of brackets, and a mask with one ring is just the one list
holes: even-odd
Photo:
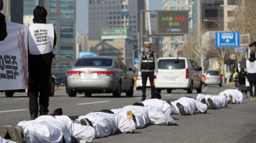
[(194, 114), (197, 110), (200, 113), (207, 113), (207, 105), (197, 102), (196, 99), (191, 97), (182, 97), (171, 104), (174, 107), (172, 108), (172, 114)]

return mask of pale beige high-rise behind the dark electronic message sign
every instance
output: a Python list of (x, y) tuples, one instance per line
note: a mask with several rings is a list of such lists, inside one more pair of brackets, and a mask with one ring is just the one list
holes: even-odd
[[(192, 0), (163, 0), (163, 10), (188, 10), (189, 11), (189, 33), (193, 30), (193, 6)], [(163, 56), (177, 57), (177, 50), (187, 40), (187, 35), (163, 37)]]

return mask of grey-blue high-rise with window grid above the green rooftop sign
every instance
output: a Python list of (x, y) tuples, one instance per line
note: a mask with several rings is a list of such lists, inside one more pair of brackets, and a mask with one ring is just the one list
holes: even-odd
[(129, 28), (132, 40), (140, 31), (142, 0), (89, 0), (89, 40), (101, 40), (102, 28)]

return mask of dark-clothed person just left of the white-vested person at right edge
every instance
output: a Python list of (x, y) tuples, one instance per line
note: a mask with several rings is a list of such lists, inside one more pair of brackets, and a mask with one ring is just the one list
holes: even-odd
[(247, 91), (249, 90), (249, 87), (245, 86), (245, 76), (247, 75), (245, 66), (246, 58), (243, 57), (237, 67), (237, 72), (239, 73), (239, 90), (244, 94), (244, 98), (247, 98)]

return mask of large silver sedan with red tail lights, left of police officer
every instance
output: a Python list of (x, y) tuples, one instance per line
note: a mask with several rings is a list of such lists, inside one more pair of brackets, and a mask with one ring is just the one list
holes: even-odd
[(82, 57), (66, 75), (66, 92), (74, 97), (78, 93), (112, 93), (113, 96), (134, 94), (134, 79), (126, 66), (116, 57)]

